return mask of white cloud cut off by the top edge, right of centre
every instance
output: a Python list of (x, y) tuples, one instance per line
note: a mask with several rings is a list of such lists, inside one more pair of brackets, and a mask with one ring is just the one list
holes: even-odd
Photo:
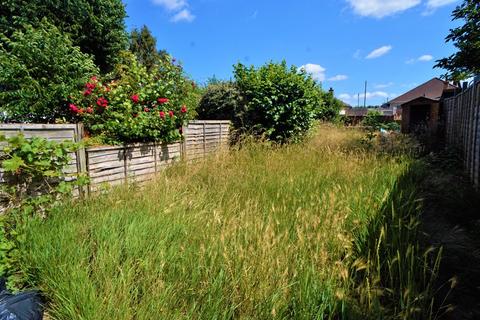
[[(421, 0), (347, 0), (353, 11), (364, 17), (383, 18), (420, 4)], [(433, 2), (449, 0), (429, 0)], [(451, 1), (451, 0), (450, 0)]]

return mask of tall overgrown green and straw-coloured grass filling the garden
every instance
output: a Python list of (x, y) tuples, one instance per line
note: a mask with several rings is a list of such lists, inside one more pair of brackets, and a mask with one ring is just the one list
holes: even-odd
[(31, 220), (20, 250), (55, 319), (428, 318), (421, 165), (321, 127), (247, 144)]

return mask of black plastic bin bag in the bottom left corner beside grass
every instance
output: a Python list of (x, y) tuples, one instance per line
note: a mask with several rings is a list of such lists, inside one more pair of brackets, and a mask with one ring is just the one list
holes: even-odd
[(42, 297), (38, 292), (12, 294), (0, 280), (0, 320), (42, 320)]

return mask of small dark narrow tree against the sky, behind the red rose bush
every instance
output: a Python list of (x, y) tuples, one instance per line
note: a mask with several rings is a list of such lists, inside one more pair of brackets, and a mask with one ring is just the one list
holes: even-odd
[(135, 28), (130, 32), (130, 51), (149, 72), (155, 68), (160, 59), (157, 40), (145, 25), (140, 31)]

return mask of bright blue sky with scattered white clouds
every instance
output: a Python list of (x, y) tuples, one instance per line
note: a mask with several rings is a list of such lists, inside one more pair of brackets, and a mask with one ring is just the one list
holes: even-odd
[[(232, 65), (281, 61), (357, 104), (381, 104), (442, 70), (459, 0), (125, 0), (127, 27), (146, 24), (198, 82), (232, 77)], [(362, 102), (363, 103), (363, 102)]]

